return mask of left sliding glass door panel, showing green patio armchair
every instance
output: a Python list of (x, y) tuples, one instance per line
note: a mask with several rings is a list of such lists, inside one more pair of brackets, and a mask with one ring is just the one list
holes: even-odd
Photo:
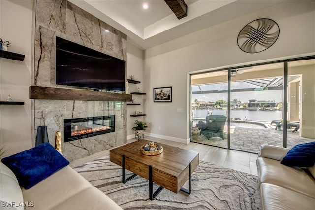
[(192, 142), (227, 148), (227, 79), (228, 70), (191, 76)]

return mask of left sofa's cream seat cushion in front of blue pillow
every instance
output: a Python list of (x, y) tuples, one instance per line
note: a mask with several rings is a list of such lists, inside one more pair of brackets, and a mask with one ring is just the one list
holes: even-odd
[(54, 210), (54, 209), (121, 209), (107, 195), (93, 187), (70, 166), (52, 174), (30, 189), (23, 189), (25, 201), (33, 201), (33, 207), (25, 210)]

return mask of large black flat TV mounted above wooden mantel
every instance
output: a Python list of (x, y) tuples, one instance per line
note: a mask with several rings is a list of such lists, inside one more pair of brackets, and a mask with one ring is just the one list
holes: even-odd
[(125, 91), (125, 61), (56, 37), (56, 84)]

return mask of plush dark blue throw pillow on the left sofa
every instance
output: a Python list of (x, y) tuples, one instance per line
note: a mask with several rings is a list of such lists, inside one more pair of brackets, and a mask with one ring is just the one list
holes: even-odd
[(11, 169), (18, 179), (19, 185), (25, 189), (31, 188), (69, 165), (69, 161), (49, 142), (5, 157), (1, 161)]

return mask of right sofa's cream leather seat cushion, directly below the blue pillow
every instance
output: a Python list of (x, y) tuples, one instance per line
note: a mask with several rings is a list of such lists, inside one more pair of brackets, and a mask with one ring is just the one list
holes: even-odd
[(282, 165), (269, 158), (257, 158), (258, 184), (269, 183), (315, 198), (315, 180), (304, 169)]

